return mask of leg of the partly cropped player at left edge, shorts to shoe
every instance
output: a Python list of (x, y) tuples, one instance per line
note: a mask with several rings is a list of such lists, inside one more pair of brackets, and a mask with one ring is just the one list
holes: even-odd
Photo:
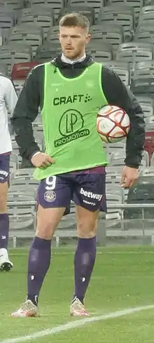
[(10, 271), (13, 263), (8, 260), (9, 218), (7, 195), (9, 178), (9, 155), (0, 155), (0, 270)]

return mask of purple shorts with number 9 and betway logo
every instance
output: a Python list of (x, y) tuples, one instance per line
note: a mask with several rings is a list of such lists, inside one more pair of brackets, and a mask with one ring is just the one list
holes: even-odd
[(92, 212), (106, 212), (105, 186), (105, 173), (80, 171), (50, 176), (41, 180), (37, 201), (43, 208), (65, 207), (65, 215), (70, 212), (71, 200)]

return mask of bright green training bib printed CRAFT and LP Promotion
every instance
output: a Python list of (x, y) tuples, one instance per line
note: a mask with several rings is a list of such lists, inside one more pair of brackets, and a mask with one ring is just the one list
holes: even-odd
[(96, 127), (97, 112), (105, 105), (102, 65), (94, 62), (80, 76), (68, 79), (50, 62), (45, 63), (41, 115), (45, 152), (55, 163), (36, 168), (36, 179), (108, 164)]

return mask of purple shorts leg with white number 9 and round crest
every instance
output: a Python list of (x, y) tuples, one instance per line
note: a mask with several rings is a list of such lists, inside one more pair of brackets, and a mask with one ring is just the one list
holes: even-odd
[(46, 177), (41, 180), (37, 191), (37, 202), (43, 208), (66, 208), (69, 213), (72, 191), (64, 175)]

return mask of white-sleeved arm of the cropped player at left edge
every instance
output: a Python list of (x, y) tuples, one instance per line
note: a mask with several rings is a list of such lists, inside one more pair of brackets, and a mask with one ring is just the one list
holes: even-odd
[(15, 90), (15, 86), (10, 79), (6, 79), (6, 89), (5, 89), (5, 102), (6, 106), (10, 111), (10, 115), (12, 116), (13, 111), (15, 109), (15, 105), (18, 101), (18, 96)]

